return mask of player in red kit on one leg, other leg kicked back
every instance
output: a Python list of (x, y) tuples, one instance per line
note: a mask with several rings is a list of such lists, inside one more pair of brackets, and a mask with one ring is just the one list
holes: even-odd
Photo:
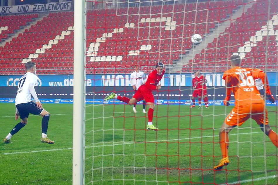
[(148, 130), (158, 130), (158, 128), (156, 128), (153, 125), (153, 111), (155, 109), (155, 105), (154, 105), (154, 96), (153, 96), (152, 91), (161, 89), (161, 85), (158, 83), (161, 80), (161, 78), (163, 77), (164, 73), (165, 73), (165, 70), (164, 70), (163, 63), (158, 62), (156, 64), (156, 69), (151, 71), (151, 73), (149, 74), (146, 83), (142, 84), (138, 88), (138, 90), (136, 91), (136, 93), (134, 94), (134, 96), (131, 99), (129, 99), (125, 96), (117, 96), (113, 92), (110, 95), (106, 96), (104, 98), (104, 100), (117, 99), (117, 100), (125, 102), (129, 105), (134, 105), (134, 104), (137, 104), (137, 102), (145, 99), (146, 104), (149, 105), (149, 110), (148, 110), (148, 120), (149, 121), (148, 121), (147, 129)]

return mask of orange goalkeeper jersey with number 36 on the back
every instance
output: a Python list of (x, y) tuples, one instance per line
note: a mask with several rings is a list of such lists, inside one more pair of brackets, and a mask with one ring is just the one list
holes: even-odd
[(260, 69), (251, 69), (243, 67), (234, 67), (225, 71), (223, 80), (226, 82), (227, 96), (234, 93), (235, 105), (246, 104), (265, 104), (260, 97), (260, 92), (256, 88), (255, 79), (262, 79), (266, 85), (266, 90), (269, 90), (269, 85), (265, 73)]

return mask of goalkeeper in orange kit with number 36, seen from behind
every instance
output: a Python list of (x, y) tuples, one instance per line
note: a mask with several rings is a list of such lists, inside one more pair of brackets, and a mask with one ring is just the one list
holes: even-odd
[(219, 133), (219, 143), (222, 152), (220, 163), (214, 167), (221, 170), (223, 166), (230, 163), (228, 157), (229, 136), (228, 133), (236, 126), (241, 126), (248, 118), (254, 119), (260, 129), (270, 138), (272, 143), (278, 148), (278, 135), (268, 124), (265, 101), (260, 97), (260, 92), (256, 88), (255, 79), (260, 78), (265, 86), (268, 99), (274, 103), (271, 95), (266, 74), (260, 69), (240, 67), (241, 57), (232, 55), (230, 58), (231, 69), (225, 71), (223, 80), (226, 82), (225, 106), (229, 105), (231, 91), (234, 93), (235, 107), (225, 119)]

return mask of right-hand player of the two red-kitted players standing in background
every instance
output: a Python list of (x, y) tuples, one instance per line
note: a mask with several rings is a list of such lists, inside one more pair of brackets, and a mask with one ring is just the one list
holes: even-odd
[[(206, 77), (202, 74), (200, 74), (200, 70), (196, 70), (196, 77), (195, 80), (197, 82), (196, 84), (196, 90), (198, 90), (198, 98), (199, 102), (201, 102), (201, 98), (204, 100), (204, 103), (206, 105), (206, 108), (209, 109), (210, 107), (208, 106), (208, 93), (207, 93), (207, 87), (206, 83), (208, 82)], [(201, 104), (199, 104), (198, 109), (201, 108)]]

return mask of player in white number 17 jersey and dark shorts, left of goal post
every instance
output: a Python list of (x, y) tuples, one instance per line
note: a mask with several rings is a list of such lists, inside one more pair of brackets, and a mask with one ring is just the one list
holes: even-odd
[[(26, 74), (23, 75), (18, 82), (17, 94), (15, 97), (15, 120), (20, 117), (20, 122), (15, 125), (11, 132), (4, 138), (4, 143), (11, 143), (11, 137), (17, 133), (21, 128), (23, 128), (27, 122), (29, 114), (42, 116), (42, 138), (41, 142), (53, 144), (47, 135), (48, 122), (49, 122), (49, 112), (42, 108), (42, 103), (39, 101), (34, 86), (38, 81), (38, 76), (36, 75), (36, 63), (27, 62), (25, 64)], [(35, 99), (32, 102), (31, 95)]]

